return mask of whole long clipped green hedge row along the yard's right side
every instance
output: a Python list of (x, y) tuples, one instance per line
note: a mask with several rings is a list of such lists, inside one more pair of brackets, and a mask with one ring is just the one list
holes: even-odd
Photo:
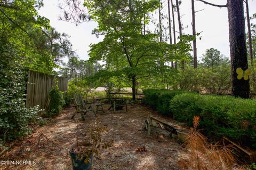
[[(192, 126), (193, 117), (197, 115), (201, 118), (199, 128), (204, 129), (203, 132), (207, 137), (216, 139), (227, 136), (236, 142), (256, 148), (256, 101), (231, 96), (179, 93), (179, 91), (153, 90), (153, 92), (146, 91), (145, 102), (153, 103), (150, 105), (158, 107), (158, 111), (161, 111), (159, 109), (161, 106), (158, 104), (161, 104), (163, 93), (174, 94), (170, 95), (169, 100), (164, 99), (165, 103), (162, 105), (162, 108), (169, 106), (169, 114), (173, 115), (174, 119)], [(154, 96), (156, 99), (152, 99)], [(156, 103), (157, 105), (154, 105)], [(162, 113), (166, 114), (166, 112)]]

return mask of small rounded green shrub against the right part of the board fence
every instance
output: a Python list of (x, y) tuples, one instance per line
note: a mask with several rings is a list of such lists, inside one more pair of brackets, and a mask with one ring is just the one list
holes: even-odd
[(59, 91), (59, 88), (53, 88), (50, 93), (50, 104), (49, 104), (49, 112), (48, 116), (57, 116), (60, 114), (63, 105), (65, 104), (65, 100), (63, 99), (63, 94)]

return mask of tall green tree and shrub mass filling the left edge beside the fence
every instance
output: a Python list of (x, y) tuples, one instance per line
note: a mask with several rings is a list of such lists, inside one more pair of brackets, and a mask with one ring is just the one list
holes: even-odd
[(28, 69), (50, 74), (65, 53), (65, 35), (51, 37), (55, 32), (49, 20), (37, 12), (42, 5), (35, 0), (0, 2), (0, 140), (26, 135), (37, 119), (38, 109), (25, 103)]

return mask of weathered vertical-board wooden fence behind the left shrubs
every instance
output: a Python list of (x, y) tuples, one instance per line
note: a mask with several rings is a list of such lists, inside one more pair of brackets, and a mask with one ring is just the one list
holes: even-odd
[(50, 102), (49, 92), (55, 87), (57, 78), (59, 90), (68, 90), (68, 78), (46, 75), (41, 72), (29, 71), (27, 85), (26, 107), (39, 105), (41, 109), (47, 109)]

